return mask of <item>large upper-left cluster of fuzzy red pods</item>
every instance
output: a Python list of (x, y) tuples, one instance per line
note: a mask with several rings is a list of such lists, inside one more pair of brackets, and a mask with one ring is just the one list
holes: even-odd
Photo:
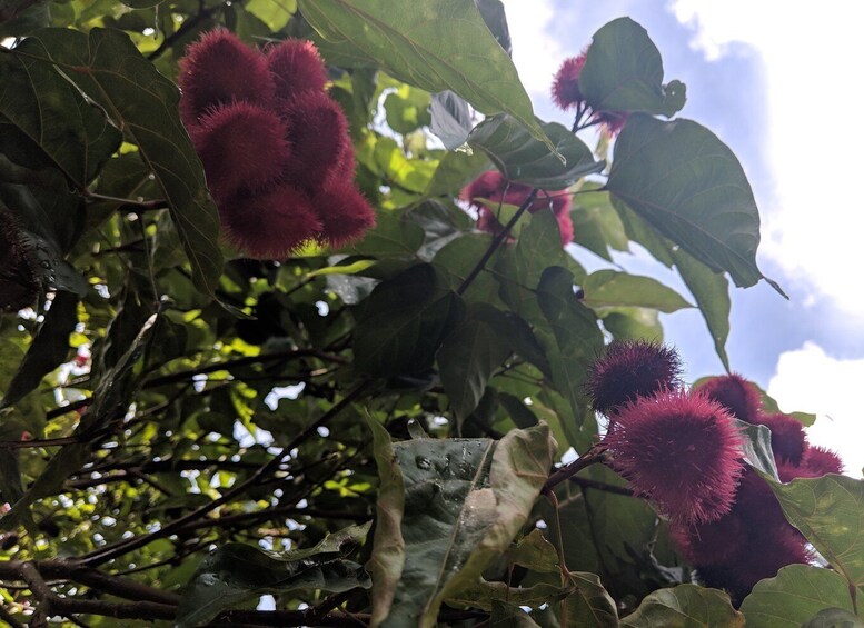
[(317, 240), (338, 248), (375, 225), (354, 186), (354, 147), (310, 41), (265, 51), (228, 30), (180, 62), (180, 117), (203, 162), (228, 239), (280, 259)]

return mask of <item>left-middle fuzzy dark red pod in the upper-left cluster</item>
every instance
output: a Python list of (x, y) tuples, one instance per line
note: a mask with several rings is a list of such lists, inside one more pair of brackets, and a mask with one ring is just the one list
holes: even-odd
[(288, 166), (285, 122), (248, 102), (211, 110), (191, 129), (207, 182), (218, 200), (272, 183)]

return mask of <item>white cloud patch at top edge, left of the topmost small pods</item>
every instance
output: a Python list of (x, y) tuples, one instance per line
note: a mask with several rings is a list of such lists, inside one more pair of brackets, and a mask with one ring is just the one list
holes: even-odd
[(549, 86), (566, 52), (548, 29), (555, 19), (552, 0), (504, 0), (513, 41), (513, 62), (532, 96), (549, 93)]

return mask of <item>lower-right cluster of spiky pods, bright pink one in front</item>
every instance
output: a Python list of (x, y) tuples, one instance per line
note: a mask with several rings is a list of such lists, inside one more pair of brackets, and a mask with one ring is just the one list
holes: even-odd
[(763, 578), (812, 551), (767, 482), (744, 463), (734, 419), (771, 429), (779, 479), (840, 474), (840, 458), (807, 442), (793, 417), (763, 411), (759, 391), (737, 375), (695, 390), (681, 382), (674, 350), (613, 343), (593, 367), (594, 409), (609, 419), (612, 467), (669, 518), (672, 537), (701, 580), (739, 604)]

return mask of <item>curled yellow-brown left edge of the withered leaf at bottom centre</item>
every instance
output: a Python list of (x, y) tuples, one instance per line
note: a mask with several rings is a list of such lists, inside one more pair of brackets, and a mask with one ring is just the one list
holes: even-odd
[(378, 626), (387, 617), (405, 564), (401, 520), (405, 510), (405, 482), (394, 453), (390, 435), (381, 423), (367, 417), (373, 431), (375, 463), (378, 467), (375, 542), (367, 569), (373, 577), (373, 619)]

